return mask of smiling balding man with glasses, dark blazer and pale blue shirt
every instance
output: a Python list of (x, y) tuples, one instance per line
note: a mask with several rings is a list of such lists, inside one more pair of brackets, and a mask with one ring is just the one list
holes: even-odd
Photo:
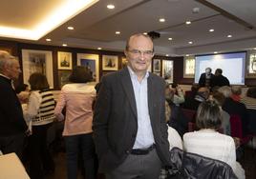
[(157, 179), (169, 161), (164, 80), (148, 72), (154, 56), (148, 35), (132, 35), (128, 67), (103, 76), (93, 129), (99, 172), (107, 179)]

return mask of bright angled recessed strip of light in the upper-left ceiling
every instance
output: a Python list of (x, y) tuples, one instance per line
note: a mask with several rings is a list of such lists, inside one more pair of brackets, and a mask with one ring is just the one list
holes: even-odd
[(0, 26), (0, 36), (27, 40), (38, 40), (50, 31), (56, 29), (71, 18), (75, 17), (81, 11), (84, 11), (94, 5), (98, 0), (72, 0), (60, 1), (53, 10), (46, 10), (42, 20), (38, 20), (31, 29), (18, 29), (12, 27)]

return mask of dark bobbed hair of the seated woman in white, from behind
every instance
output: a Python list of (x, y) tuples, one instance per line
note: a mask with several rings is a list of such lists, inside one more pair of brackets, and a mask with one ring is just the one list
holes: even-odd
[(204, 101), (198, 108), (196, 124), (199, 129), (219, 129), (222, 125), (219, 105), (213, 100)]

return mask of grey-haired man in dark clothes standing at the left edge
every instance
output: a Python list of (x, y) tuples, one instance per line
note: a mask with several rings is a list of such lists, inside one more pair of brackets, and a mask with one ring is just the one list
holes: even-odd
[(0, 50), (0, 150), (4, 154), (15, 152), (19, 157), (28, 127), (11, 83), (20, 72), (18, 60)]

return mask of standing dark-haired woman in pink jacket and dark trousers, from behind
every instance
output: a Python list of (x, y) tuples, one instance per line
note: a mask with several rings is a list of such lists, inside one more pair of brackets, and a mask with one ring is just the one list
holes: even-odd
[(95, 179), (95, 145), (93, 141), (93, 101), (95, 85), (89, 83), (91, 72), (85, 67), (75, 67), (70, 76), (71, 84), (63, 86), (55, 108), (55, 116), (63, 120), (66, 108), (63, 136), (66, 144), (68, 178), (77, 178), (77, 153), (81, 150), (85, 178)]

